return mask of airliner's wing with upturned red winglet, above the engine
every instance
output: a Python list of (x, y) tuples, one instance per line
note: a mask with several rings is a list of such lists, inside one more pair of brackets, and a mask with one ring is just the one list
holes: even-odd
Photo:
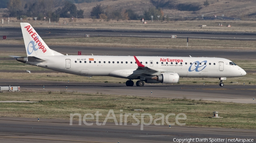
[(152, 68), (148, 68), (147, 66), (144, 66), (141, 64), (141, 62), (137, 59), (136, 56), (133, 56), (135, 58), (135, 61), (138, 65), (138, 68), (133, 71), (133, 75), (160, 75), (161, 73), (167, 73), (167, 72), (172, 72), (172, 71), (167, 71), (167, 70), (156, 70)]

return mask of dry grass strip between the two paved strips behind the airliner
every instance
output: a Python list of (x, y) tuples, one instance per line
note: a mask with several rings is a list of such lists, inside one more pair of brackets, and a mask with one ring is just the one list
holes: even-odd
[[(49, 38), (44, 39), (48, 46), (51, 45), (74, 45), (89, 47), (117, 47), (117, 48), (165, 48), (165, 49), (219, 49), (219, 50), (255, 50), (256, 41), (240, 40), (209, 40), (209, 39), (190, 39), (187, 47), (187, 39), (181, 38), (137, 38), (137, 37), (90, 37), (90, 38)], [(23, 39), (0, 40), (0, 44), (24, 45)], [(25, 48), (24, 48), (25, 50)], [(6, 56), (2, 51), (0, 57)], [(20, 51), (21, 52), (21, 51)], [(21, 53), (18, 53), (21, 54)], [(26, 54), (25, 51), (22, 54)], [(11, 54), (13, 55), (13, 54)]]

